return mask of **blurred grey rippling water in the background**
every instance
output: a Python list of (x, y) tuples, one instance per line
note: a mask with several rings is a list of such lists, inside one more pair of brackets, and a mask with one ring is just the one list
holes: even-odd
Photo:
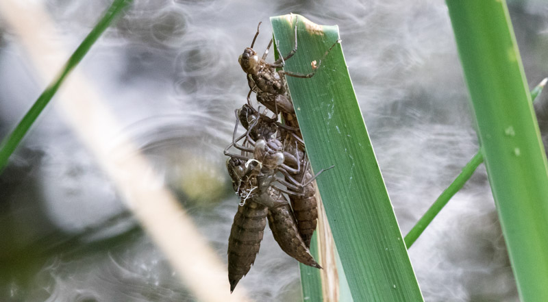
[[(59, 27), (52, 39), (67, 49), (110, 4), (26, 2), (45, 6)], [(78, 68), (223, 260), (238, 200), (222, 151), (232, 136), (234, 109), (248, 90), (237, 58), (259, 21), (264, 25), (256, 49), (266, 47), (269, 16), (293, 12), (339, 25), (403, 234), (477, 151), (442, 1), (135, 2)], [(548, 75), (547, 6), (511, 2), (510, 15), (533, 87)], [(1, 136), (44, 88), (34, 74), (18, 38), (0, 20)], [(536, 104), (541, 129), (544, 99)], [(0, 175), (0, 301), (195, 301), (54, 107)], [(426, 301), (518, 299), (482, 167), (410, 256)], [(240, 285), (256, 301), (300, 299), (297, 262), (268, 231)]]

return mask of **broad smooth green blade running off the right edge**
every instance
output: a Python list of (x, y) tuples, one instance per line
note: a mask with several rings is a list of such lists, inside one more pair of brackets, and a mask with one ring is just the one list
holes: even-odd
[(548, 163), (506, 1), (447, 0), (522, 301), (548, 297)]

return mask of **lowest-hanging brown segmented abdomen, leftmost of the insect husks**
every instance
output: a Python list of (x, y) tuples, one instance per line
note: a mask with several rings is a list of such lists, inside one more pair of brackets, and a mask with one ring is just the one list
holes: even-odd
[(238, 281), (249, 272), (259, 252), (260, 242), (266, 226), (268, 210), (264, 205), (246, 201), (238, 206), (228, 238), (228, 280), (230, 292)]

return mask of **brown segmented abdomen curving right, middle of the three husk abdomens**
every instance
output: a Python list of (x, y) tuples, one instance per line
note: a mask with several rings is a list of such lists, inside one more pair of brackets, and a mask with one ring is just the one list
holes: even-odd
[[(321, 268), (316, 260), (314, 260), (314, 257), (310, 255), (310, 251), (306, 247), (301, 234), (299, 234), (297, 221), (295, 221), (295, 216), (293, 216), (291, 207), (284, 195), (273, 188), (270, 188), (269, 191), (271, 197), (276, 198), (281, 203), (281, 205), (276, 207), (269, 207), (268, 215), (269, 227), (279, 247), (297, 261), (312, 267)], [(282, 200), (284, 201), (283, 203)]]

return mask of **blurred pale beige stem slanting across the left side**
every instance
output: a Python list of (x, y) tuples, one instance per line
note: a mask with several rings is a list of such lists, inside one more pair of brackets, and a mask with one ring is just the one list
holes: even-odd
[[(55, 36), (55, 27), (46, 10), (23, 5), (21, 1), (1, 0), (0, 14), (21, 40), (38, 75), (42, 79), (53, 78), (52, 71), (60, 70), (69, 55), (52, 42), (62, 39), (51, 38)], [(229, 294), (226, 265), (171, 192), (164, 188), (162, 177), (123, 135), (123, 127), (105, 106), (108, 101), (88, 83), (82, 73), (74, 71), (66, 78), (55, 103), (68, 125), (95, 155), (129, 210), (166, 255), (177, 277), (199, 301), (250, 301), (242, 286)], [(114, 136), (116, 145), (112, 146)]]

